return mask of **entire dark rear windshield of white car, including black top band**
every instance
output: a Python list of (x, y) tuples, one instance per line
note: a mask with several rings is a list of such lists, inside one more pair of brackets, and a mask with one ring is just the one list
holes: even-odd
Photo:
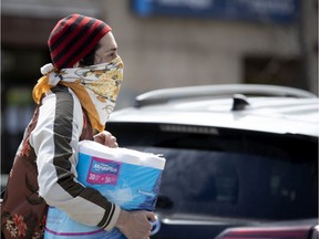
[(266, 220), (317, 217), (316, 141), (220, 131), (217, 135), (144, 131), (138, 139), (131, 134), (133, 139), (127, 133), (122, 134), (124, 146), (166, 158), (156, 205), (163, 214)]

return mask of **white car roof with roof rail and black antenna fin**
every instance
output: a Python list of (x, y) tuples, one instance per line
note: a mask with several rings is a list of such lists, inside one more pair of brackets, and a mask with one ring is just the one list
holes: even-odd
[(115, 111), (110, 122), (319, 136), (318, 97), (291, 87), (231, 84), (166, 89), (138, 95), (136, 103)]

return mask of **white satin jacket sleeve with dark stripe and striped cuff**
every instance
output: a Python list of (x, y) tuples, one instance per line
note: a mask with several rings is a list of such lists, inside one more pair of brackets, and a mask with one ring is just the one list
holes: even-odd
[(120, 207), (76, 180), (76, 149), (82, 127), (80, 102), (66, 89), (52, 90), (43, 98), (38, 124), (30, 135), (37, 154), (39, 194), (48, 205), (60, 208), (74, 220), (110, 230), (117, 221)]

